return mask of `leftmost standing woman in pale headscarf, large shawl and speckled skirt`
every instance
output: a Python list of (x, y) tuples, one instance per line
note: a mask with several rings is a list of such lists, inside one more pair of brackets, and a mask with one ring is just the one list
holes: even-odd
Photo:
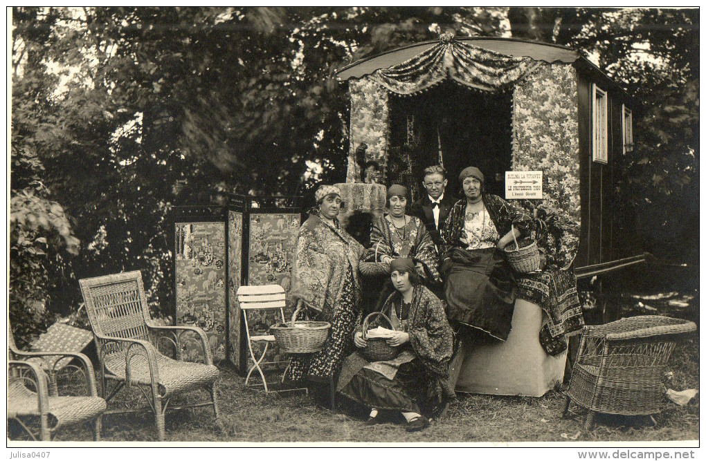
[(338, 188), (323, 185), (316, 191), (316, 207), (299, 228), (288, 301), (303, 303), (298, 314), (328, 321), (330, 333), (323, 349), (297, 355), (285, 379), (295, 383), (330, 383), (343, 359), (353, 349), (352, 335), (360, 323), (358, 262), (364, 247), (343, 230), (336, 219), (341, 207)]

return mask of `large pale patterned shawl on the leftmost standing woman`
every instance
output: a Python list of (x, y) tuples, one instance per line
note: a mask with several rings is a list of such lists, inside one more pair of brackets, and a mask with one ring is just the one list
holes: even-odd
[(333, 318), (349, 267), (354, 292), (356, 296), (360, 293), (358, 262), (364, 250), (339, 226), (334, 228), (316, 215), (309, 216), (297, 235), (289, 302), (294, 305), (301, 299), (325, 319)]

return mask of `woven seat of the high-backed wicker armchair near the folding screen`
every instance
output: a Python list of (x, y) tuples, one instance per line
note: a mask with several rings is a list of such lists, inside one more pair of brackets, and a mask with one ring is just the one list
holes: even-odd
[[(107, 371), (125, 379), (125, 355), (112, 354), (106, 357)], [(150, 367), (144, 355), (133, 355), (130, 361), (130, 383), (150, 385)], [(162, 396), (200, 388), (218, 379), (219, 371), (214, 365), (174, 360), (157, 352), (157, 383), (164, 389)], [(160, 389), (161, 391), (161, 389)]]

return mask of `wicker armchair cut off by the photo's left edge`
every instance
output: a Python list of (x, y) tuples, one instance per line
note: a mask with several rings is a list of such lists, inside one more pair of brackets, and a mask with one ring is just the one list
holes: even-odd
[[(96, 392), (93, 366), (88, 357), (74, 352), (24, 352), (15, 345), (11, 328), (8, 330), (8, 420), (14, 419), (37, 440), (30, 426), (38, 419), (42, 441), (52, 440), (61, 427), (93, 422), (93, 440), (99, 441), (106, 403)], [(80, 370), (78, 376), (84, 384), (81, 391), (88, 395), (59, 395), (56, 368), (66, 360), (71, 364), (65, 369)], [(53, 375), (51, 381), (49, 375)], [(78, 389), (73, 387), (70, 391), (76, 393)]]

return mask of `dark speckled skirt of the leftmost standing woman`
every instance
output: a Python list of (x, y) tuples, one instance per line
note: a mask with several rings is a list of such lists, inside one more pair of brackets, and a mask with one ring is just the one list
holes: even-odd
[[(328, 321), (331, 329), (323, 349), (313, 354), (292, 355), (285, 381), (301, 383), (301, 381), (328, 382), (341, 369), (343, 359), (353, 350), (353, 333), (360, 324), (361, 314), (355, 305), (353, 273), (348, 269), (341, 296), (333, 309), (333, 318), (324, 319), (321, 312), (311, 315), (312, 320)], [(304, 319), (304, 312), (297, 314), (297, 319)]]

